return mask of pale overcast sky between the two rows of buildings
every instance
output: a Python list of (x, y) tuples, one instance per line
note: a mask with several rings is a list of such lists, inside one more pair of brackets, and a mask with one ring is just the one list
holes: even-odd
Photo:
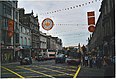
[[(95, 12), (96, 23), (100, 14), (101, 1), (102, 0), (18, 0), (18, 8), (24, 8), (25, 13), (31, 13), (33, 10), (34, 15), (38, 15), (40, 31), (47, 33), (47, 35), (52, 35), (53, 37), (59, 37), (62, 39), (63, 46), (67, 47), (77, 46), (79, 43), (81, 45), (87, 45), (88, 37), (92, 34), (88, 31), (87, 12)], [(84, 5), (82, 6), (82, 4)], [(78, 7), (73, 8), (73, 6), (76, 5), (78, 5)], [(70, 9), (70, 7), (72, 7), (72, 9)], [(54, 12), (57, 10), (61, 11)], [(47, 14), (47, 12), (49, 14)], [(44, 30), (41, 26), (45, 18), (51, 18), (55, 24), (49, 31)]]

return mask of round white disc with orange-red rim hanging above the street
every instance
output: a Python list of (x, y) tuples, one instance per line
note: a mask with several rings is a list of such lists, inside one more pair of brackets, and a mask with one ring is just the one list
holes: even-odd
[(54, 22), (50, 18), (46, 18), (42, 21), (42, 28), (44, 30), (51, 30), (54, 26)]

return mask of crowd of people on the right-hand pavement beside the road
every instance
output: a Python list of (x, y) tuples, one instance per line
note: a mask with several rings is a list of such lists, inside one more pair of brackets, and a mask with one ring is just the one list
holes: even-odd
[(91, 56), (91, 55), (85, 55), (82, 58), (82, 65), (85, 67), (105, 67), (109, 65), (114, 65), (115, 64), (115, 58), (114, 57), (100, 57), (100, 56)]

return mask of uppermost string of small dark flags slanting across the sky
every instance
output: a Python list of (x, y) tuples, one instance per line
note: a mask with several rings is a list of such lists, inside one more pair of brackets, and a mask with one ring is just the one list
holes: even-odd
[(64, 8), (64, 9), (59, 9), (59, 10), (55, 10), (55, 11), (50, 11), (50, 12), (46, 12), (46, 13), (41, 13), (40, 15), (47, 15), (47, 14), (57, 13), (57, 12), (61, 12), (61, 11), (72, 10), (72, 9), (79, 8), (79, 7), (83, 7), (83, 6), (86, 6), (86, 5), (88, 5), (88, 4), (92, 4), (92, 3), (98, 2), (98, 1), (101, 1), (101, 0), (89, 1), (89, 2), (86, 2), (86, 3), (83, 3), (83, 4), (71, 6), (71, 7)]

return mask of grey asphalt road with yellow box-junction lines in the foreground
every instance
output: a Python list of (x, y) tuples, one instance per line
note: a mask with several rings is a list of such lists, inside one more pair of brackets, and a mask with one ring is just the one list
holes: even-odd
[(73, 78), (78, 66), (55, 64), (54, 60), (34, 62), (31, 65), (2, 64), (1, 78)]

